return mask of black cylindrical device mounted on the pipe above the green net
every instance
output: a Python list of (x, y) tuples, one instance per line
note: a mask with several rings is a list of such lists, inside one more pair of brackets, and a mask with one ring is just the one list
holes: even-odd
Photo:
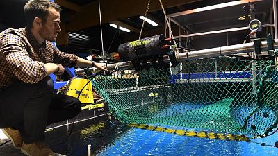
[[(145, 37), (141, 40), (120, 44), (118, 52), (123, 61), (131, 61), (133, 67), (140, 71), (149, 67), (165, 68), (167, 64), (163, 62), (163, 56), (172, 55), (174, 46), (170, 38), (164, 35)], [(174, 58), (171, 60), (171, 58)], [(175, 57), (170, 57), (171, 63), (176, 64)], [(151, 62), (151, 63), (147, 63)], [(173, 66), (173, 65), (172, 65)]]

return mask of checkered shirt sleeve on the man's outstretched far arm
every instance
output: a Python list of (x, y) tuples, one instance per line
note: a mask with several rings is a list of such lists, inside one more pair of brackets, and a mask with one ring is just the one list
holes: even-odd
[[(48, 45), (47, 45), (48, 46)], [(54, 62), (62, 64), (65, 67), (75, 67), (77, 64), (77, 56), (70, 53), (64, 53), (57, 49), (54, 45), (48, 46), (51, 50), (54, 51)]]

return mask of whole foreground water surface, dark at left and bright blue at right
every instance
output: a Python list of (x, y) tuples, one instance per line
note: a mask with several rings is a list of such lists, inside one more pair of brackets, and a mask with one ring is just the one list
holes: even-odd
[[(65, 155), (87, 155), (87, 145), (92, 145), (93, 155), (278, 155), (278, 148), (261, 146), (253, 142), (223, 141), (198, 137), (186, 137), (165, 132), (130, 128), (109, 122), (85, 121), (75, 123), (71, 137), (66, 137), (66, 128), (47, 132), (47, 142), (56, 152)], [(278, 134), (256, 139), (274, 145)]]

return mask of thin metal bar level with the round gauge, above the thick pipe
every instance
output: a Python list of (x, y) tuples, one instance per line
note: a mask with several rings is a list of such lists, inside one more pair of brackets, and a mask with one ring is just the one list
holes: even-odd
[[(268, 27), (268, 26), (275, 26), (275, 24), (264, 24), (263, 27)], [(215, 33), (227, 33), (230, 31), (242, 31), (242, 30), (247, 30), (249, 29), (248, 26), (245, 27), (239, 27), (239, 28), (229, 28), (229, 29), (223, 29), (219, 31), (207, 31), (203, 33), (192, 33), (188, 35), (180, 35), (180, 36), (175, 36), (174, 39), (181, 38), (181, 37), (192, 37), (192, 36), (199, 36), (199, 35), (209, 35), (209, 34), (215, 34)]]

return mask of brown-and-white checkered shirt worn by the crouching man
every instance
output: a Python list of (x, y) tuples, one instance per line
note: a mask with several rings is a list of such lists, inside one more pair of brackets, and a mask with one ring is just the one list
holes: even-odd
[(0, 91), (15, 80), (38, 83), (47, 76), (44, 63), (49, 62), (74, 67), (77, 56), (59, 51), (49, 41), (39, 45), (26, 28), (0, 33)]

